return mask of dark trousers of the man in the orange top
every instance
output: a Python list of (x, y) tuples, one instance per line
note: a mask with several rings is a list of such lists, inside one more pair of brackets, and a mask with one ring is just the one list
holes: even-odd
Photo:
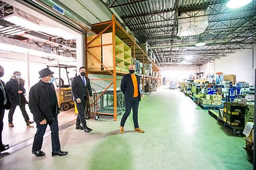
[(139, 100), (138, 100), (138, 98), (133, 98), (132, 101), (125, 102), (125, 113), (123, 114), (123, 117), (121, 119), (121, 124), (120, 124), (121, 127), (124, 127), (125, 121), (126, 121), (127, 117), (130, 115), (132, 108), (133, 108), (134, 128), (139, 128), (139, 124), (138, 124)]

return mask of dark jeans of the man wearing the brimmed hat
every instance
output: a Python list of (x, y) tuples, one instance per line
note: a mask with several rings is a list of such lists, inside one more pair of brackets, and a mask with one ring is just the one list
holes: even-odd
[(46, 125), (36, 124), (36, 134), (34, 137), (32, 151), (39, 151), (42, 148), (42, 140), (44, 139), (44, 135), (46, 133), (47, 125), (50, 126), (52, 131), (52, 151), (57, 152), (60, 151), (60, 143), (59, 143), (59, 127), (58, 127), (58, 119), (54, 118), (53, 121), (47, 123)]

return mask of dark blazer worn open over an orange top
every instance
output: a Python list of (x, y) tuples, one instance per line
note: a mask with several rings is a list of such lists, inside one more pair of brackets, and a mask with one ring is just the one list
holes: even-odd
[[(140, 101), (140, 77), (135, 75), (138, 83), (138, 96), (137, 99)], [(121, 90), (124, 94), (125, 101), (132, 101), (134, 95), (133, 80), (131, 74), (124, 75), (121, 81)]]

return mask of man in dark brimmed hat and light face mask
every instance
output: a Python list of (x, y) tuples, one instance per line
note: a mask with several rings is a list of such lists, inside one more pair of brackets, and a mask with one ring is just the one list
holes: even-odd
[(49, 68), (40, 70), (39, 75), (41, 80), (31, 87), (29, 92), (29, 108), (34, 115), (36, 123), (36, 134), (32, 146), (32, 154), (35, 156), (45, 156), (41, 151), (42, 140), (46, 132), (47, 125), (52, 131), (52, 156), (65, 156), (66, 151), (60, 151), (59, 142), (59, 127), (58, 127), (58, 101), (57, 95), (52, 84), (54, 81), (53, 74)]

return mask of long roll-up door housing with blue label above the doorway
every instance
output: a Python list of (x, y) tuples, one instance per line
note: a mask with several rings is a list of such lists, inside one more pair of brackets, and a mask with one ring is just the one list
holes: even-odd
[[(89, 32), (91, 31), (92, 25), (90, 22), (82, 18), (80, 15), (72, 11), (69, 7), (66, 5), (62, 4), (58, 0), (34, 0), (36, 3), (46, 7), (48, 10), (54, 12), (60, 17), (63, 17), (72, 23), (75, 23), (77, 26), (79, 26), (84, 32)], [(57, 6), (57, 7), (56, 7)], [(55, 8), (59, 10), (54, 10)], [(59, 12), (57, 12), (59, 11)], [(62, 11), (62, 13), (60, 13)]]

